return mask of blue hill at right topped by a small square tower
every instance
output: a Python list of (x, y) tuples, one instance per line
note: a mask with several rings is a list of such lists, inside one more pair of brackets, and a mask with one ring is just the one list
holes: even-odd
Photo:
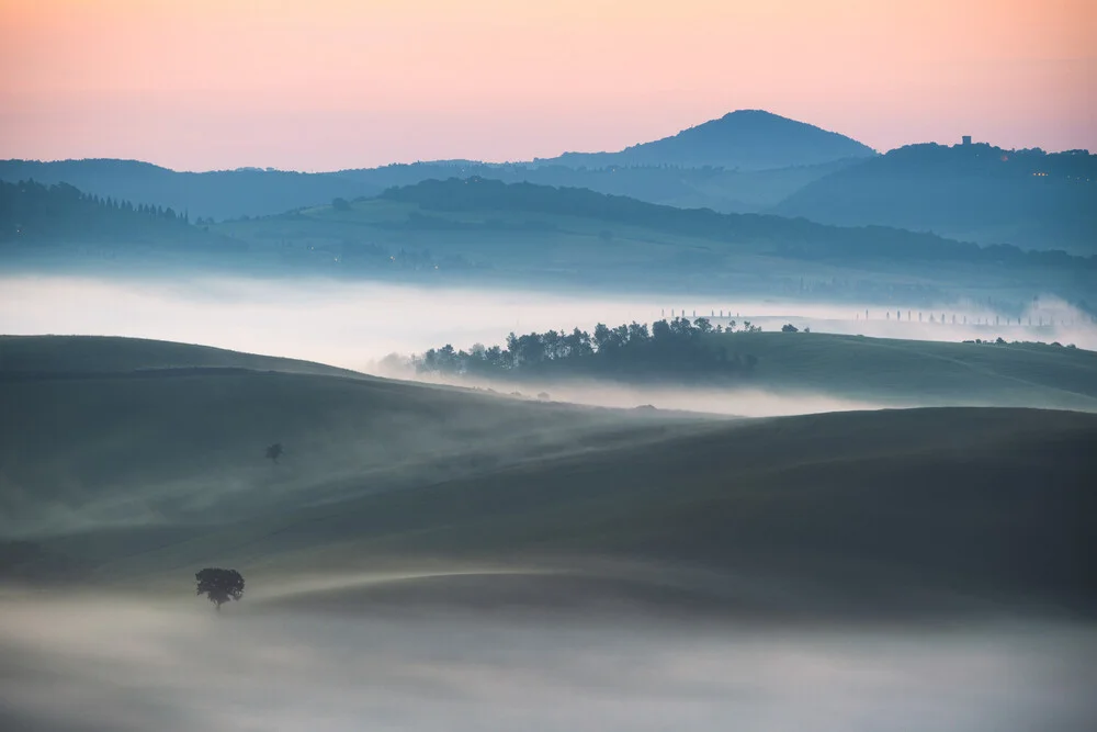
[(1097, 252), (1097, 156), (911, 145), (807, 183), (773, 213)]

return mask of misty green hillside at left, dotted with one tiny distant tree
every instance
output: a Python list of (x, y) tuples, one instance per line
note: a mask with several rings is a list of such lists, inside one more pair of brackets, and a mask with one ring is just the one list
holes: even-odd
[[(651, 439), (675, 421), (159, 341), (9, 338), (0, 353), (9, 534), (234, 520), (349, 485)], [(274, 442), (276, 466), (263, 457)]]

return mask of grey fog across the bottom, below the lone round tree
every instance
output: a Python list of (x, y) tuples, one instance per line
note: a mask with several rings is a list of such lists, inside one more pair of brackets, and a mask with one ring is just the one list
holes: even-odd
[[(1089, 729), (1092, 631), (906, 632), (380, 617), (120, 596), (0, 598), (20, 730)], [(734, 720), (734, 722), (733, 722)]]

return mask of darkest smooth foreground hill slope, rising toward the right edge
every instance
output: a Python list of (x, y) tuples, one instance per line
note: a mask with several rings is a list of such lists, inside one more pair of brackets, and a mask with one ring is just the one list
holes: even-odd
[[(977, 598), (1092, 613), (1095, 443), (1092, 415), (789, 417), (369, 496), (224, 539), (259, 566), (294, 537), (313, 568), (408, 554), (538, 558), (578, 574), (589, 558), (661, 563), (670, 577), (700, 567), (720, 577), (703, 592), (733, 604), (751, 601), (739, 583), (810, 588), (790, 612)], [(317, 552), (319, 536), (340, 540)]]

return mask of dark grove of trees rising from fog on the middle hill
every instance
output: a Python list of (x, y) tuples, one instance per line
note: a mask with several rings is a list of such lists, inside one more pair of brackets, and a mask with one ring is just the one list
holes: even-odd
[[(711, 337), (734, 328), (734, 320), (725, 330), (703, 317), (694, 322), (683, 317), (656, 320), (651, 328), (640, 323), (614, 328), (599, 323), (593, 333), (579, 328), (523, 336), (511, 333), (506, 346), (476, 345), (468, 351), (446, 345), (414, 357), (414, 363), (420, 373), (453, 375), (745, 376), (758, 359), (728, 352), (726, 341)], [(740, 329), (758, 330), (749, 322)]]

